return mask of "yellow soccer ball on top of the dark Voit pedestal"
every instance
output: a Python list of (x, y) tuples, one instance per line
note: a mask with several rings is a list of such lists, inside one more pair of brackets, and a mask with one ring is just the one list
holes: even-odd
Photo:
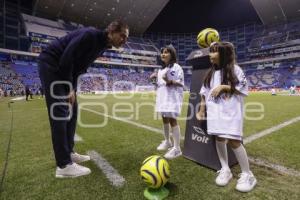
[(211, 43), (219, 41), (219, 32), (213, 28), (206, 28), (202, 30), (197, 36), (197, 44), (201, 48), (209, 47)]

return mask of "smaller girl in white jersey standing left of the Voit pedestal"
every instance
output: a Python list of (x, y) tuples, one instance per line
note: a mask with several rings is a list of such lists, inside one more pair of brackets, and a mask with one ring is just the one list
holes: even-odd
[[(180, 115), (184, 77), (183, 70), (176, 63), (176, 50), (169, 45), (161, 49), (162, 68), (151, 78), (157, 78), (155, 111), (162, 115), (164, 140), (157, 147), (163, 151), (169, 149), (164, 155), (167, 159), (173, 159), (182, 154), (180, 149), (180, 128), (176, 118)], [(170, 125), (174, 145), (170, 140)]]

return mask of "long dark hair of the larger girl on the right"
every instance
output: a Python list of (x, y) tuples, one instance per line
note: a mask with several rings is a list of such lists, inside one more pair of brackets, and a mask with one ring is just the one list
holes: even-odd
[(210, 52), (219, 52), (220, 65), (212, 64), (205, 79), (204, 86), (210, 88), (211, 78), (216, 70), (221, 70), (221, 84), (230, 85), (231, 93), (235, 92), (238, 79), (234, 73), (235, 53), (234, 46), (230, 42), (217, 42), (210, 46)]

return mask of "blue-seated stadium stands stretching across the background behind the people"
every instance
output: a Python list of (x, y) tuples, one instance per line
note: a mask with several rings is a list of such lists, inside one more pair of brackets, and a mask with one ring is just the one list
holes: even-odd
[[(34, 90), (39, 87), (35, 58), (52, 40), (68, 32), (83, 27), (74, 22), (48, 20), (28, 14), (21, 14), (25, 34), (30, 41), (33, 54), (24, 60), (11, 54), (11, 60), (1, 67), (1, 89), (20, 93), (26, 85)], [(238, 63), (245, 69), (251, 88), (269, 89), (271, 87), (289, 88), (300, 85), (300, 22), (294, 21), (273, 26), (248, 23), (220, 30), (221, 39), (236, 46)], [(134, 90), (136, 86), (152, 86), (149, 75), (158, 68), (159, 48), (172, 44), (177, 49), (179, 64), (184, 68), (185, 84), (189, 88), (190, 67), (185, 58), (195, 49), (197, 33), (147, 33), (143, 37), (130, 37), (124, 48), (110, 49), (100, 56), (89, 69), (80, 89), (83, 92)], [(11, 74), (11, 76), (8, 76)], [(100, 74), (104, 80), (89, 77)], [(6, 77), (6, 78), (5, 78)], [(10, 77), (9, 80), (7, 80)], [(14, 77), (11, 79), (11, 77)], [(122, 80), (123, 82), (116, 83)], [(15, 83), (16, 86), (13, 86)], [(132, 84), (131, 84), (132, 83)], [(92, 86), (94, 85), (94, 86)]]

